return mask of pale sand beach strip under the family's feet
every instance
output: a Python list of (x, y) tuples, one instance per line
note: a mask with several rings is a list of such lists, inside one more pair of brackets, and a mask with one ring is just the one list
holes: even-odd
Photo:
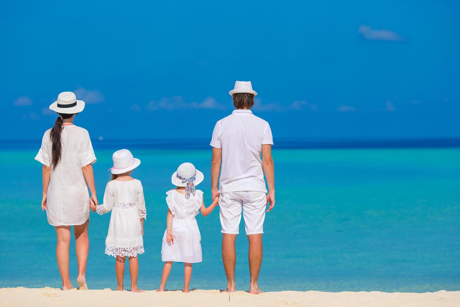
[(131, 293), (57, 288), (1, 288), (0, 306), (459, 306), (460, 291), (427, 293), (280, 291), (251, 295), (219, 290)]

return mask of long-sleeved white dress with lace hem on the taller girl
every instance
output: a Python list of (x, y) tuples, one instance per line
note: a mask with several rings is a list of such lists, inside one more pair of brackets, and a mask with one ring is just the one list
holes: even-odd
[(136, 257), (144, 253), (140, 219), (147, 218), (144, 190), (140, 180), (110, 180), (105, 187), (104, 203), (96, 207), (98, 214), (112, 210), (105, 254)]

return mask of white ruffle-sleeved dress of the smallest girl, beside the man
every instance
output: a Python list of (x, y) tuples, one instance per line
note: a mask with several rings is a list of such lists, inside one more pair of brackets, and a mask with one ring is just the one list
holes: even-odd
[(165, 231), (161, 261), (201, 262), (201, 234), (195, 216), (201, 208), (203, 192), (196, 190), (195, 196), (190, 194), (189, 199), (176, 190), (167, 191), (166, 195), (166, 203), (173, 214), (174, 243), (166, 241)]

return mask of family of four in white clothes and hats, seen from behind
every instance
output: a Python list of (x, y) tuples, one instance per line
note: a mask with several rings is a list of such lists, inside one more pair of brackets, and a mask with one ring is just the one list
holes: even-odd
[[(257, 280), (263, 255), (265, 209), (267, 203), (270, 206), (266, 212), (275, 205), (274, 165), (271, 157), (273, 139), (269, 124), (254, 116), (250, 110), (254, 105), (254, 96), (257, 95), (251, 82), (236, 81), (230, 95), (236, 110), (216, 123), (210, 143), (213, 147), (213, 203), (206, 207), (203, 192), (196, 189), (204, 175), (192, 163), (179, 165), (172, 174), (173, 189), (166, 192), (166, 230), (161, 248), (161, 260), (165, 263), (157, 291), (165, 290), (173, 262), (184, 262), (183, 291), (189, 292), (192, 263), (202, 261), (201, 235), (195, 217), (199, 213), (206, 216), (219, 206), (226, 291), (236, 290), (235, 241), (243, 214), (249, 240), (249, 292), (262, 293)], [(99, 204), (92, 169), (96, 156), (91, 139), (86, 129), (73, 124), (75, 115), (84, 107), (85, 103), (77, 100), (74, 93), (60, 93), (57, 101), (50, 105), (50, 109), (59, 116), (54, 127), (45, 132), (40, 151), (35, 156), (35, 160), (43, 164), (41, 207), (46, 210), (48, 223), (56, 229), (56, 257), (63, 290), (74, 288), (69, 277), (70, 226), (74, 226), (77, 283), (80, 290), (88, 289), (85, 271), (91, 209), (98, 214), (111, 211), (105, 254), (116, 259), (117, 290), (123, 290), (125, 261), (128, 258), (131, 291), (143, 292), (137, 287), (137, 255), (144, 253), (143, 226), (147, 210), (142, 183), (131, 177), (132, 170), (141, 162), (127, 149), (115, 151), (112, 156), (113, 167), (109, 169), (111, 180), (105, 187), (104, 202)]]

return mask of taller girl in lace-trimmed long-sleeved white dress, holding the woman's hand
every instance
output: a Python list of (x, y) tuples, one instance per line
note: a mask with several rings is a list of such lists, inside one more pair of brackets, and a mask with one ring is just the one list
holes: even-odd
[(105, 187), (104, 204), (92, 210), (104, 214), (112, 210), (109, 233), (105, 239), (105, 254), (116, 258), (115, 273), (117, 289), (123, 291), (123, 274), (126, 257), (129, 259), (131, 291), (143, 292), (137, 286), (138, 254), (144, 253), (144, 219), (147, 217), (144, 202), (144, 191), (139, 180), (130, 176), (132, 169), (137, 168), (140, 160), (132, 156), (127, 149), (115, 151), (114, 166), (110, 168), (112, 180)]

